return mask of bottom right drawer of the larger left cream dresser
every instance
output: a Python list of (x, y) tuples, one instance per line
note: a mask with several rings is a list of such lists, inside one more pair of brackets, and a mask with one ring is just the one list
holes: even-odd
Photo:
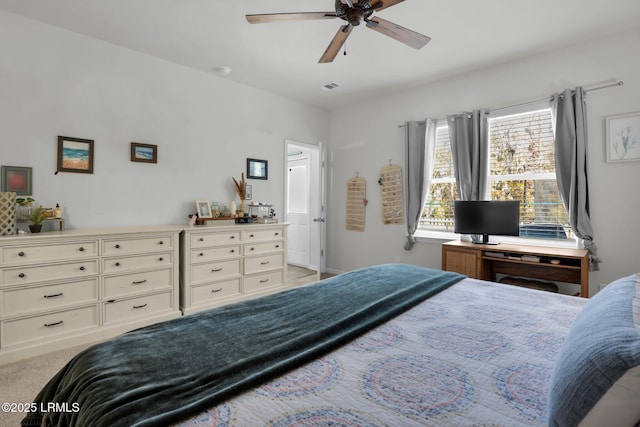
[(172, 293), (163, 292), (104, 304), (104, 323), (121, 322), (173, 310)]

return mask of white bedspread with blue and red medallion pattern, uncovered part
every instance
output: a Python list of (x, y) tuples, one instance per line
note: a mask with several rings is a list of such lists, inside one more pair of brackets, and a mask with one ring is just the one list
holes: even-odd
[(545, 425), (551, 368), (586, 302), (465, 279), (180, 425)]

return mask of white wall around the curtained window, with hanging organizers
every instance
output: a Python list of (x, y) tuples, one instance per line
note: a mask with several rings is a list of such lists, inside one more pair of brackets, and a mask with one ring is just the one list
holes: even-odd
[[(577, 85), (620, 79), (623, 87), (588, 94), (589, 196), (595, 241), (603, 260), (601, 271), (591, 273), (591, 292), (599, 283), (640, 271), (640, 162), (606, 163), (604, 151), (604, 117), (640, 111), (639, 45), (640, 30), (332, 111), (329, 267), (347, 271), (396, 261), (440, 267), (439, 243), (417, 243), (412, 251), (405, 251), (404, 225), (382, 225), (378, 172), (389, 159), (403, 165), (404, 129), (399, 124), (514, 105)], [(369, 205), (363, 233), (345, 230), (345, 187), (356, 172), (367, 180)]]

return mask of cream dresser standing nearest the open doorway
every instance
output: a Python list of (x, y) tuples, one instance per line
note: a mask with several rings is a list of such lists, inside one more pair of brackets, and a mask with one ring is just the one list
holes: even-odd
[(194, 226), (182, 234), (184, 314), (282, 291), (287, 224)]

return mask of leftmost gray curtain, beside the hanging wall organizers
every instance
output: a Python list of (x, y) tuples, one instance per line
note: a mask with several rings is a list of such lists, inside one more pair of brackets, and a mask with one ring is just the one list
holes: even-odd
[(416, 242), (415, 233), (420, 224), (427, 191), (433, 174), (433, 156), (436, 141), (436, 122), (407, 122), (405, 126), (405, 217), (407, 242), (405, 250), (411, 250)]

